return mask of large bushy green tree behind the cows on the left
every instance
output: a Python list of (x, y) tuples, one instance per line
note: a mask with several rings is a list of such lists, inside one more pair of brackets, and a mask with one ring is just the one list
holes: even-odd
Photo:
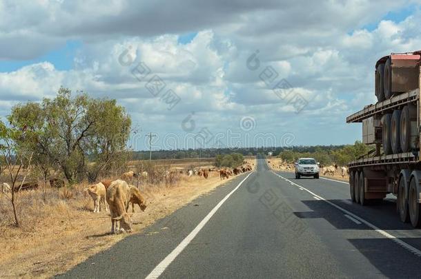
[(92, 99), (87, 94), (73, 98), (63, 87), (55, 99), (14, 106), (8, 119), (12, 127), (34, 131), (26, 145), (36, 163), (57, 165), (70, 183), (86, 175), (95, 180), (121, 163), (116, 161), (126, 148), (131, 125), (115, 100)]

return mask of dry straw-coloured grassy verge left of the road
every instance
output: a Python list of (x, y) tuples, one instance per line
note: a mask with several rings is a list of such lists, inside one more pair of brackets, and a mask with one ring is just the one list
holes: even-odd
[[(255, 159), (246, 161), (255, 168)], [(228, 180), (231, 179), (233, 176)], [(182, 175), (173, 186), (141, 185), (148, 208), (144, 212), (135, 208), (134, 233), (226, 181), (220, 180), (217, 172), (210, 172), (208, 179)], [(86, 184), (71, 191), (49, 188), (46, 192), (21, 192), (19, 228), (11, 225), (10, 201), (0, 193), (0, 278), (49, 278), (128, 236), (110, 234), (109, 214), (92, 213), (93, 202), (84, 187)]]

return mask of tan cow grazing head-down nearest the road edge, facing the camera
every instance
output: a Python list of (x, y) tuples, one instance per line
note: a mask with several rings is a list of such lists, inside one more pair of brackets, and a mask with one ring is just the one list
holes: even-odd
[(108, 187), (106, 198), (110, 207), (112, 234), (133, 230), (132, 219), (127, 213), (131, 196), (130, 187), (124, 180), (112, 181), (110, 187)]

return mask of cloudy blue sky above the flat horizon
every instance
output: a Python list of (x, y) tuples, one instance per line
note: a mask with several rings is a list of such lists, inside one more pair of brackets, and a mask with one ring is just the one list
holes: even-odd
[(136, 150), (149, 133), (153, 149), (353, 143), (362, 127), (345, 118), (375, 103), (375, 62), (421, 49), (420, 8), (0, 0), (0, 116), (63, 86), (117, 99)]

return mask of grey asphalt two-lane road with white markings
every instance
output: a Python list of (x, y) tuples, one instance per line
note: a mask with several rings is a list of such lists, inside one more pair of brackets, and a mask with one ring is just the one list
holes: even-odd
[(346, 183), (296, 180), (258, 159), (59, 277), (414, 278), (420, 263), (421, 231), (400, 223), (393, 200), (355, 205)]

